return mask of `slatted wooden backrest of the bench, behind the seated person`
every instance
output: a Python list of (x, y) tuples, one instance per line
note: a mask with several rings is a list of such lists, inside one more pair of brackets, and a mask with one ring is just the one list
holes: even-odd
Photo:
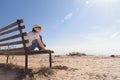
[(24, 40), (24, 36), (27, 35), (23, 32), (25, 28), (22, 19), (18, 19), (16, 22), (9, 24), (0, 29), (0, 55), (13, 54), (21, 55), (25, 54), (27, 40)]

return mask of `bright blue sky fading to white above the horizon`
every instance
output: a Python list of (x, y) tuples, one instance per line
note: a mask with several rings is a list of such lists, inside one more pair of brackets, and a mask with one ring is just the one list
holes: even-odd
[(120, 0), (1, 0), (0, 27), (24, 19), (55, 54), (120, 55)]

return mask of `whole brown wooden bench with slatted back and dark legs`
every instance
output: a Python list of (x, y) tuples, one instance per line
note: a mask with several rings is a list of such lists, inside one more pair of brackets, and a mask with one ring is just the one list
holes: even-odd
[(26, 47), (28, 40), (24, 32), (25, 26), (21, 25), (22, 19), (0, 29), (0, 55), (25, 55), (25, 73), (28, 71), (28, 55), (49, 54), (49, 66), (52, 67), (52, 50), (31, 51)]

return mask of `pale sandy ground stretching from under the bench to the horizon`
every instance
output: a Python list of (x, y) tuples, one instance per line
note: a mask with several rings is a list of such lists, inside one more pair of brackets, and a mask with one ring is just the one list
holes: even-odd
[[(52, 59), (52, 75), (16, 79), (16, 72), (0, 70), (0, 80), (120, 80), (120, 57), (53, 56)], [(5, 62), (6, 57), (0, 56), (0, 63)], [(10, 57), (9, 63), (24, 66), (24, 56)], [(28, 66), (33, 71), (49, 67), (48, 56), (29, 56)]]

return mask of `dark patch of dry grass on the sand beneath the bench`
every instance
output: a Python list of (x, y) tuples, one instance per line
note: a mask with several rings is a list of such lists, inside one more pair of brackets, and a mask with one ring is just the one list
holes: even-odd
[(0, 64), (0, 70), (4, 72), (14, 71), (17, 74), (16, 80), (29, 79), (34, 80), (34, 76), (49, 77), (54, 75), (54, 70), (49, 67), (41, 67), (39, 69), (29, 69), (27, 75), (24, 74), (24, 67), (16, 66), (13, 64)]

